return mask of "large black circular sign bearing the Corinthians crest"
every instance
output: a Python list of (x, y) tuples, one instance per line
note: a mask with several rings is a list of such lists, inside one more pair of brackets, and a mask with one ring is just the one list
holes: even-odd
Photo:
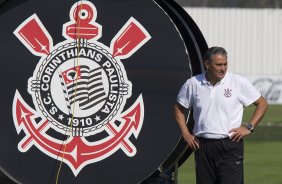
[(206, 46), (176, 9), (165, 0), (6, 1), (1, 170), (18, 183), (132, 184), (159, 168), (181, 137), (176, 95)]

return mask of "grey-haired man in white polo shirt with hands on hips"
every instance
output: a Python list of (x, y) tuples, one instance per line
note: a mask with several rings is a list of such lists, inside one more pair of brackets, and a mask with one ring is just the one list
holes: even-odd
[[(227, 72), (227, 52), (212, 47), (204, 55), (206, 72), (188, 79), (177, 96), (175, 118), (183, 138), (195, 151), (197, 184), (240, 184), (243, 137), (258, 125), (268, 104), (252, 84)], [(256, 106), (249, 123), (241, 125), (243, 107)], [(185, 109), (193, 108), (193, 133)]]

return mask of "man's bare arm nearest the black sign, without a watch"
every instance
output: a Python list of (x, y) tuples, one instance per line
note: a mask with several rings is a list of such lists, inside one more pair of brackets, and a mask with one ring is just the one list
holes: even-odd
[(189, 132), (188, 127), (186, 126), (184, 112), (185, 108), (179, 103), (176, 103), (174, 106), (174, 116), (181, 130), (182, 136), (193, 150), (197, 150), (199, 149), (199, 142), (196, 137)]

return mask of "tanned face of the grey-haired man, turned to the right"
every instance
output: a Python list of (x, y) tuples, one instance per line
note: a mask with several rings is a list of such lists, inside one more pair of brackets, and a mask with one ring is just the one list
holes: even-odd
[(227, 56), (216, 54), (210, 61), (205, 61), (209, 80), (220, 81), (227, 71)]

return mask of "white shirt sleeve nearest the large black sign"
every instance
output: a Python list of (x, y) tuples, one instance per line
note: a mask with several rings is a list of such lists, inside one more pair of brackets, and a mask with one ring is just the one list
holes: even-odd
[(177, 95), (177, 102), (187, 109), (191, 107), (192, 105), (191, 79), (188, 79), (181, 87)]

